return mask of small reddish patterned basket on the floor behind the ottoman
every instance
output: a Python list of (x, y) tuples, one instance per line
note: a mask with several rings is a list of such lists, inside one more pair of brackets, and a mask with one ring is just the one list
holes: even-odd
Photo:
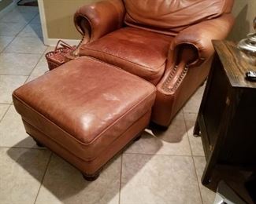
[(46, 60), (48, 63), (49, 70), (65, 64), (69, 60), (74, 59), (76, 56), (72, 52), (76, 49), (76, 46), (69, 46), (64, 41), (59, 40), (54, 51), (46, 53)]

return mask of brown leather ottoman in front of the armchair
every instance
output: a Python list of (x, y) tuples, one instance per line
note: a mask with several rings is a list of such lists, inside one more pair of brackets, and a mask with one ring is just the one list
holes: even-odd
[(148, 125), (154, 98), (149, 82), (87, 56), (13, 92), (27, 133), (87, 180)]

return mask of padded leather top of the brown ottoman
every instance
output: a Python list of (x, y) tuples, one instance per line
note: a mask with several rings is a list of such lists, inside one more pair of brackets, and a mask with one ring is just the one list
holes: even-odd
[(154, 97), (155, 87), (149, 82), (87, 56), (13, 92), (13, 100), (32, 107), (83, 144), (91, 143), (126, 112)]

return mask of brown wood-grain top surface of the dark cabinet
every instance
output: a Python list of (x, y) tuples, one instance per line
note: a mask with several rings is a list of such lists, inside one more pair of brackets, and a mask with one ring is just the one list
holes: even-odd
[(245, 79), (246, 72), (256, 71), (256, 66), (248, 63), (245, 54), (236, 48), (235, 42), (214, 40), (213, 47), (232, 86), (256, 89), (256, 82)]

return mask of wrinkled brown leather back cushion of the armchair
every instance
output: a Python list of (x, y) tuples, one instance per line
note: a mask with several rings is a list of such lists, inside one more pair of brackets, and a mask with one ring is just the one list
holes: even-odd
[(230, 13), (233, 0), (123, 0), (124, 23), (176, 35), (191, 24)]

